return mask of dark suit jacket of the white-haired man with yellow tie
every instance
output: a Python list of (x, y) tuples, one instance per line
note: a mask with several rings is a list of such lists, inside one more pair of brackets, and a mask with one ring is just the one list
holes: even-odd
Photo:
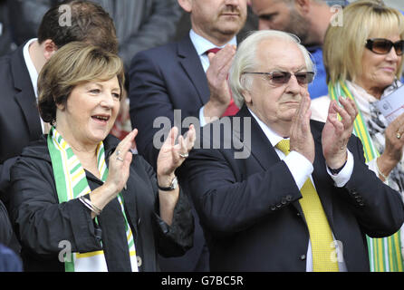
[[(206, 233), (210, 268), (305, 271), (309, 232), (298, 202), (302, 195), (246, 107), (236, 117), (242, 124), (251, 118), (251, 128), (230, 131), (236, 140), (244, 140), (245, 132), (251, 132), (251, 145), (245, 142), (251, 150), (249, 158), (235, 159), (236, 143), (223, 149), (228, 137), (222, 136), (210, 142), (212, 148), (212, 142), (220, 141), (221, 149), (193, 150), (181, 168), (185, 179), (181, 183), (190, 189)], [(385, 237), (399, 230), (403, 203), (397, 191), (367, 168), (356, 137), (349, 142), (354, 157), (351, 179), (341, 189), (334, 187), (322, 156), (322, 127), (323, 123), (312, 122), (313, 181), (332, 233), (342, 243), (348, 271), (369, 271), (365, 234)]]

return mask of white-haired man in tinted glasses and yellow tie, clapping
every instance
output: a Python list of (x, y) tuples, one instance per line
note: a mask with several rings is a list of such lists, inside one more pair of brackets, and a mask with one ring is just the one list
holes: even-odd
[[(243, 107), (226, 117), (230, 130), (204, 128), (179, 175), (211, 270), (369, 271), (365, 234), (401, 227), (399, 193), (367, 168), (351, 136), (355, 104), (340, 98), (326, 123), (310, 121), (312, 81), (310, 55), (291, 34), (260, 31), (239, 45), (230, 85)], [(238, 144), (249, 154), (237, 158)]]

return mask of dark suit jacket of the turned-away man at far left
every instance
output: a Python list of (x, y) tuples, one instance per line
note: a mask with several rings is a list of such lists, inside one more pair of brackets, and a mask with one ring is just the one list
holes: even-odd
[[(24, 44), (0, 58), (0, 198), (8, 203), (9, 171), (32, 140), (42, 134), (34, 88), (23, 56)], [(11, 159), (11, 160), (10, 160)]]

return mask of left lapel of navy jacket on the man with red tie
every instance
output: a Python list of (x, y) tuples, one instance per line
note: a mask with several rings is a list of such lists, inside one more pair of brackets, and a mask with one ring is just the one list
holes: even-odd
[(189, 35), (178, 43), (178, 59), (184, 72), (197, 89), (197, 94), (202, 104), (209, 101), (209, 88), (207, 86), (207, 75), (204, 72), (194, 44)]

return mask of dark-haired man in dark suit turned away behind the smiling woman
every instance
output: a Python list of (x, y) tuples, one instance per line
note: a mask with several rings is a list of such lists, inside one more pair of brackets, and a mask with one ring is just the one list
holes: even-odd
[[(44, 63), (64, 44), (84, 41), (118, 52), (109, 14), (91, 2), (57, 5), (44, 16), (38, 38), (0, 58), (0, 198), (8, 207), (10, 168), (30, 141), (47, 132), (36, 105), (36, 82)], [(61, 9), (59, 9), (61, 8)], [(16, 242), (14, 242), (15, 244)], [(18, 251), (16, 245), (10, 245)]]

